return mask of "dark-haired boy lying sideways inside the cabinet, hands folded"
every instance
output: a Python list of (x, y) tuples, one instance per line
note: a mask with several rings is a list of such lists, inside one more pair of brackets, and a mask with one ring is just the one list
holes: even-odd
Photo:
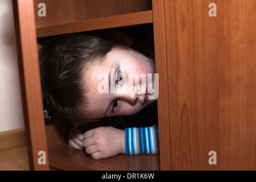
[[(157, 126), (140, 130), (127, 128), (131, 121), (157, 121), (157, 117), (145, 119), (145, 114), (143, 117), (137, 114), (145, 112), (146, 106), (154, 105), (157, 98), (154, 97), (155, 68), (151, 59), (101, 38), (64, 35), (45, 43), (39, 60), (44, 107), (56, 110), (75, 124), (69, 135), (69, 148), (85, 148), (93, 159), (158, 153)], [(141, 77), (143, 74), (147, 75), (145, 79)], [(85, 123), (95, 121), (110, 126), (84, 129)], [(133, 139), (132, 135), (137, 133), (146, 140)], [(148, 143), (152, 147), (148, 147)]]

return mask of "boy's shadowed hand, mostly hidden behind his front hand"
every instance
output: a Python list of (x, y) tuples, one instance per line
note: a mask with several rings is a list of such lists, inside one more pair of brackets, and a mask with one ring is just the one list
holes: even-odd
[(81, 127), (72, 127), (68, 138), (68, 148), (71, 150), (82, 150), (82, 142), (84, 142), (84, 133), (82, 133)]

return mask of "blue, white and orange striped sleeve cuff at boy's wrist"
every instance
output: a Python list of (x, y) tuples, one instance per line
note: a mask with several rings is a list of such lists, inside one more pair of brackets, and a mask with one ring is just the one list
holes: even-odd
[(126, 155), (159, 154), (158, 126), (125, 129)]

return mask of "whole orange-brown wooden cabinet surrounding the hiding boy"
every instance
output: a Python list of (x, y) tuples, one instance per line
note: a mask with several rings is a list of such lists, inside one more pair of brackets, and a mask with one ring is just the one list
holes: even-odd
[[(13, 2), (31, 169), (256, 169), (254, 0)], [(37, 15), (39, 2), (46, 17)], [(92, 160), (68, 150), (61, 136), (69, 127), (44, 123), (36, 38), (144, 25), (154, 27), (160, 155)]]

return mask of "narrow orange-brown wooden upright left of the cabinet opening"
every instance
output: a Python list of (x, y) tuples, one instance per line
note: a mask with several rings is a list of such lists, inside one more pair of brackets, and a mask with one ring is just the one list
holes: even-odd
[(48, 170), (48, 158), (46, 158), (46, 165), (38, 164), (38, 152), (45, 151), (47, 154), (47, 144), (36, 45), (34, 4), (32, 0), (13, 0), (13, 5), (30, 169)]

